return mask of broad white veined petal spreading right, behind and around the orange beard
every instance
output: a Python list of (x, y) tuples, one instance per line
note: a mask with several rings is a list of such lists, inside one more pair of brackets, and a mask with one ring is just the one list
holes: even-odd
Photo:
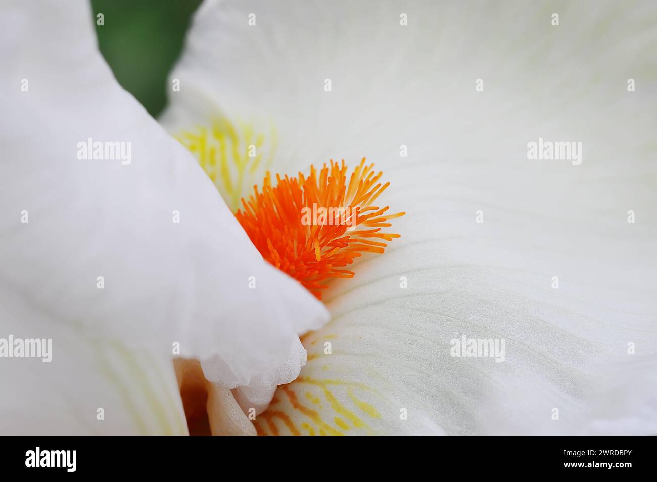
[[(261, 433), (583, 433), (594, 380), (614, 379), (628, 343), (657, 349), (657, 12), (573, 3), (553, 26), (554, 9), (207, 1), (197, 12), (171, 74), (188, 88), (171, 96), (171, 132), (213, 112), (271, 119), (273, 170), (365, 156), (392, 183), (381, 203), (408, 212), (394, 222), (401, 241), (332, 285), (332, 322), (304, 340), (309, 362)], [(539, 137), (581, 141), (582, 163), (528, 160)], [(505, 361), (450, 356), (462, 335), (505, 339)]]

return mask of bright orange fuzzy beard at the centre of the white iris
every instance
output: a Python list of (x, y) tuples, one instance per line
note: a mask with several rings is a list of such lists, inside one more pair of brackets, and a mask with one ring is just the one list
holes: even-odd
[[(235, 216), (265, 260), (321, 299), (328, 279), (353, 277), (353, 271), (344, 267), (354, 258), (361, 253), (383, 253), (387, 246), (384, 241), (399, 237), (381, 232), (381, 228), (392, 226), (388, 220), (405, 213), (386, 216), (388, 206), (372, 205), (390, 184), (377, 182), (382, 173), (375, 174), (373, 167), (365, 166), (363, 158), (347, 178), (344, 160), (341, 165), (331, 160), (319, 175), (314, 166), (310, 166), (307, 178), (302, 173), (298, 178), (277, 174), (276, 186), (267, 172), (262, 191), (254, 186), (248, 201), (242, 198), (244, 210), (238, 210)], [(312, 212), (313, 206), (315, 212), (319, 206), (346, 214), (324, 219), (317, 216), (316, 224), (307, 224), (304, 212)], [(316, 220), (313, 218), (313, 222)]]

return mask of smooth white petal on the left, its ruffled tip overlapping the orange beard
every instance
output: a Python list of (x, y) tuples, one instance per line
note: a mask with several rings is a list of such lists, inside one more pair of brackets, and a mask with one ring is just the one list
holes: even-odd
[[(29, 307), (24, 325), (41, 314), (98, 343), (179, 343), (229, 389), (289, 372), (327, 311), (263, 262), (191, 155), (116, 84), (87, 3), (12, 1), (0, 18), (0, 291)], [(80, 159), (87, 139), (125, 156)]]

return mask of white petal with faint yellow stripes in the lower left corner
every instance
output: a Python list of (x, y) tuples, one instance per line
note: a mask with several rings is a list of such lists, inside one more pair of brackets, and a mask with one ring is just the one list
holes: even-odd
[(187, 435), (169, 350), (99, 341), (6, 291), (0, 319), (0, 339), (39, 339), (47, 351), (0, 358), (3, 435)]

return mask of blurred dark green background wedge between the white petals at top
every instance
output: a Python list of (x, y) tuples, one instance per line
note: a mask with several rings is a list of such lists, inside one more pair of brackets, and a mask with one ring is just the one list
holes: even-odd
[(166, 104), (166, 80), (201, 0), (91, 0), (102, 55), (124, 89), (152, 116)]

